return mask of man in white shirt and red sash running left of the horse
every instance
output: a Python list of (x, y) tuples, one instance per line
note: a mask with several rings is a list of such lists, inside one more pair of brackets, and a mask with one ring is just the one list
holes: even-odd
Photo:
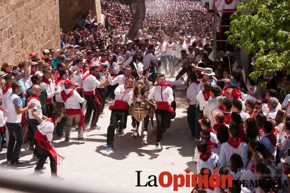
[(126, 84), (119, 85), (115, 93), (115, 103), (110, 105), (109, 109), (112, 111), (110, 118), (110, 125), (108, 126), (107, 133), (107, 146), (106, 151), (111, 151), (113, 148), (115, 129), (118, 128), (118, 133), (122, 133), (122, 129), (126, 128), (128, 117), (128, 104), (132, 103), (134, 77), (129, 76)]

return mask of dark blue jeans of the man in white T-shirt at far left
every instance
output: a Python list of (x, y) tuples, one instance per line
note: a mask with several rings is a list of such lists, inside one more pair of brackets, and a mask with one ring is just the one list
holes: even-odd
[[(11, 161), (17, 162), (23, 144), (23, 134), (20, 123), (6, 123), (9, 134), (9, 142), (7, 146), (7, 157), (11, 157)], [(16, 141), (16, 144), (15, 144)], [(15, 145), (15, 146), (14, 146)]]

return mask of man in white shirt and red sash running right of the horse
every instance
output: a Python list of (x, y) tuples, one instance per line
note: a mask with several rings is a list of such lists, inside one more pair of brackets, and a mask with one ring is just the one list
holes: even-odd
[(171, 107), (171, 102), (174, 101), (171, 85), (165, 82), (164, 74), (158, 76), (157, 83), (157, 86), (153, 87), (148, 95), (148, 100), (154, 97), (157, 102), (155, 111), (157, 120), (155, 150), (161, 149), (162, 130), (170, 127), (171, 116), (174, 115), (174, 110)]

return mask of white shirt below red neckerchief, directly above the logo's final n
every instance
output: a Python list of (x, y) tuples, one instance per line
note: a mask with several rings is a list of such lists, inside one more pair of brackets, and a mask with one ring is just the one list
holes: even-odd
[(225, 142), (220, 147), (220, 165), (221, 166), (228, 166), (231, 168), (231, 155), (234, 153), (239, 154), (242, 157), (244, 166), (247, 164), (247, 154), (248, 154), (248, 144), (242, 142), (238, 148), (234, 148), (233, 146), (229, 145), (228, 142)]

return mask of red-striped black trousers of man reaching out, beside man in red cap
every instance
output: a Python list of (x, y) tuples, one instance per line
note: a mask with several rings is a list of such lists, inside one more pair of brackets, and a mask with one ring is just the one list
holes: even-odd
[(92, 111), (94, 110), (92, 122), (90, 124), (91, 127), (94, 127), (96, 126), (100, 115), (99, 103), (94, 95), (84, 95), (84, 98), (86, 99), (88, 105), (85, 115), (85, 124), (90, 122)]

